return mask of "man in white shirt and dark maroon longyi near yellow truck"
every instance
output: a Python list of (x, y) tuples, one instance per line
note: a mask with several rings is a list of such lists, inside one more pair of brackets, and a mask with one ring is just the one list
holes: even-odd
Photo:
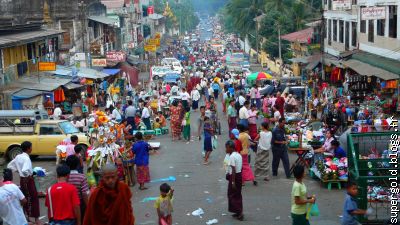
[(40, 224), (40, 207), (39, 198), (33, 179), (32, 162), (29, 154), (32, 152), (32, 143), (25, 141), (21, 144), (22, 152), (17, 155), (8, 165), (7, 168), (14, 172), (18, 172), (20, 176), (21, 191), (25, 195), (27, 204), (24, 205), (26, 215), (35, 218), (35, 223)]

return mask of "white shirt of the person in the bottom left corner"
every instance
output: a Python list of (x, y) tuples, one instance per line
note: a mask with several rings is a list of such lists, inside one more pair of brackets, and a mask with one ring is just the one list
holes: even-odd
[(28, 224), (20, 202), (24, 198), (24, 194), (15, 184), (0, 187), (0, 217), (4, 225)]

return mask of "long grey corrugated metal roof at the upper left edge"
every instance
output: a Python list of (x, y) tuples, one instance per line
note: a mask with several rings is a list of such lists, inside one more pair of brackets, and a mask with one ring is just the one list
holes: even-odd
[(53, 29), (39, 29), (34, 31), (10, 33), (0, 35), (0, 48), (12, 47), (31, 43), (37, 40), (44, 39), (45, 37), (53, 37), (64, 33), (62, 30)]

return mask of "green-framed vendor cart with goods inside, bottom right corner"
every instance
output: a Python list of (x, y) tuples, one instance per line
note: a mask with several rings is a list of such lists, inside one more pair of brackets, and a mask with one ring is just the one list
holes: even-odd
[[(391, 224), (393, 201), (399, 204), (398, 190), (400, 132), (350, 133), (347, 135), (349, 178), (359, 187), (356, 198), (361, 209), (372, 208), (368, 218), (359, 216), (362, 224)], [(397, 141), (397, 146), (396, 142)], [(396, 148), (395, 150), (393, 150)], [(397, 153), (397, 154), (396, 154)], [(392, 158), (390, 159), (390, 154)], [(396, 163), (394, 163), (396, 162)], [(393, 176), (397, 173), (396, 176)], [(396, 181), (397, 180), (397, 181)], [(391, 189), (393, 181), (397, 187)], [(392, 202), (391, 202), (392, 200)]]

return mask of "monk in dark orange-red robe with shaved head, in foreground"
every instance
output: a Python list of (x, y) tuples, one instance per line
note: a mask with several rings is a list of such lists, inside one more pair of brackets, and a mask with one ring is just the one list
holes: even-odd
[(118, 181), (114, 164), (102, 167), (100, 185), (90, 195), (84, 225), (134, 225), (132, 193), (129, 186)]

